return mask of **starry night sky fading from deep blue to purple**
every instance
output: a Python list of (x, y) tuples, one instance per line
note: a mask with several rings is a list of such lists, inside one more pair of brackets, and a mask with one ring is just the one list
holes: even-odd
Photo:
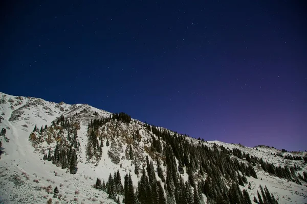
[(307, 149), (304, 1), (13, 2), (0, 6), (1, 92)]

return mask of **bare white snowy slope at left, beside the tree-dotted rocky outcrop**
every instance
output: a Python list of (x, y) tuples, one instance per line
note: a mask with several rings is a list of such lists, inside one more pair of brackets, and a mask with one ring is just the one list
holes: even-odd
[[(89, 175), (73, 175), (45, 162), (41, 155), (34, 152), (29, 142), (35, 124), (38, 127), (49, 126), (60, 115), (89, 107), (0, 93), (0, 127), (6, 129), (6, 135), (1, 138), (4, 154), (0, 160), (0, 203), (46, 203), (50, 198), (65, 203), (96, 203), (99, 200), (114, 203), (107, 198), (106, 193), (91, 188), (94, 181)], [(105, 111), (101, 113), (107, 115)], [(5, 142), (5, 138), (8, 142)], [(86, 168), (88, 166), (85, 165)], [(52, 194), (48, 193), (56, 186), (62, 195), (61, 199), (52, 198)]]

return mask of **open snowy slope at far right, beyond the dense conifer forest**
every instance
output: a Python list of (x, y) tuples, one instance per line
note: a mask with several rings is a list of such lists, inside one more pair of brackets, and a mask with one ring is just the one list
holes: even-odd
[[(221, 141), (207, 141), (209, 144), (216, 144), (216, 145), (223, 145), (225, 148), (233, 149), (237, 148), (240, 149), (242, 152), (246, 154), (250, 154), (256, 156), (257, 158), (262, 158), (265, 161), (275, 164), (276, 166), (293, 166), (300, 165), (302, 170), (298, 171), (302, 174), (303, 171), (307, 171), (306, 164), (303, 161), (294, 161), (294, 160), (286, 160), (277, 154), (290, 154), (296, 156), (305, 156), (307, 152), (282, 152), (279, 149), (275, 149), (272, 147), (259, 145), (257, 147), (246, 147), (240, 144), (230, 144)], [(274, 155), (276, 154), (276, 155)], [(259, 190), (259, 184), (261, 186), (267, 186), (270, 192), (273, 192), (274, 196), (279, 198), (279, 203), (307, 203), (307, 185), (303, 184), (303, 186), (298, 185), (293, 182), (288, 182), (286, 179), (280, 179), (279, 177), (272, 176), (269, 173), (265, 172), (262, 169), (258, 169), (257, 171), (258, 179), (254, 179), (253, 177), (248, 177), (248, 182), (252, 184), (252, 190), (249, 191), (251, 195), (251, 199), (253, 196), (257, 198), (257, 190)], [(260, 179), (260, 180), (259, 180)], [(242, 188), (244, 189), (244, 188)], [(247, 189), (247, 188), (245, 188)], [(248, 189), (247, 189), (248, 190)]]

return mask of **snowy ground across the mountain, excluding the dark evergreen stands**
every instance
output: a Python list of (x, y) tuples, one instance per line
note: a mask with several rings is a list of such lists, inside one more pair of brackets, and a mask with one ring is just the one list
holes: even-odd
[[(146, 163), (146, 156), (150, 158), (150, 152), (146, 149), (150, 148), (150, 134), (152, 134), (146, 131), (144, 123), (132, 119), (129, 125), (121, 122), (116, 123), (116, 127), (113, 123), (106, 124), (106, 129), (99, 132), (104, 144), (100, 161), (97, 162), (95, 158), (90, 160), (86, 158), (87, 124), (93, 119), (105, 118), (110, 115), (111, 113), (86, 104), (68, 105), (63, 102), (56, 104), (40, 98), (16, 97), (0, 92), (0, 130), (6, 129), (6, 135), (0, 138), (4, 148), (3, 151), (5, 151), (0, 160), (0, 202), (46, 203), (53, 195), (48, 194), (45, 187), (51, 185), (52, 191), (57, 186), (62, 195), (61, 199), (52, 198), (53, 202), (98, 203), (98, 201), (101, 201), (103, 203), (114, 203), (114, 201), (107, 198), (108, 195), (105, 192), (98, 191), (91, 187), (91, 185), (95, 184), (97, 177), (107, 181), (109, 174), (113, 175), (117, 169), (119, 169), (122, 176), (122, 183), (123, 176), (127, 172), (131, 172), (134, 186), (137, 187), (140, 174), (136, 175), (133, 173), (135, 163), (126, 159), (126, 149), (128, 144), (133, 146), (135, 157), (137, 157), (136, 161), (138, 161), (137, 165), (141, 169)], [(45, 125), (49, 127), (60, 116), (80, 124), (80, 129), (77, 133), (80, 148), (77, 151), (78, 171), (76, 174), (70, 174), (67, 170), (42, 160), (43, 155), (47, 154), (49, 147), (54, 149), (56, 145), (55, 136), (51, 137), (53, 138), (51, 142), (46, 139), (48, 131), (51, 131), (52, 127), (42, 134), (42, 141), (35, 145), (29, 141), (29, 135), (32, 133), (35, 124), (38, 128)], [(131, 136), (136, 130), (139, 130), (141, 140), (131, 143), (127, 136)], [(67, 132), (62, 131), (62, 134), (66, 135)], [(105, 138), (109, 139), (111, 145), (106, 145)], [(188, 140), (194, 144), (199, 142), (194, 138), (188, 138)], [(300, 172), (307, 171), (303, 161), (285, 160), (274, 155), (292, 154), (289, 152), (281, 152), (278, 149), (267, 147), (257, 147), (256, 149), (220, 141), (204, 142), (209, 147), (212, 147), (213, 143), (219, 146), (223, 145), (229, 149), (238, 148), (243, 152), (272, 162), (275, 165), (300, 165), (302, 167)], [(120, 158), (118, 163), (115, 163), (109, 157), (108, 152), (110, 151)], [(305, 152), (295, 153), (295, 155), (301, 156), (305, 154)], [(154, 164), (156, 167), (155, 162)], [(165, 167), (162, 166), (162, 169), (165, 174)], [(248, 177), (248, 181), (252, 184), (252, 189), (247, 189), (251, 199), (256, 194), (259, 184), (261, 184), (268, 187), (270, 192), (278, 198), (279, 203), (307, 203), (307, 187), (305, 183), (298, 185), (288, 182), (269, 175), (269, 173), (262, 169), (257, 169), (257, 174), (259, 179)], [(185, 173), (183, 176), (185, 181), (187, 177)], [(158, 176), (157, 178), (159, 180)], [(37, 182), (33, 182), (34, 180), (37, 180)], [(75, 191), (79, 193), (75, 194)]]

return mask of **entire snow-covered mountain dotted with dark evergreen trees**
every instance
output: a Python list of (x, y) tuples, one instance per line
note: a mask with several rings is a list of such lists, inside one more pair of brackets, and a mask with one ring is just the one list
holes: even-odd
[(162, 189), (167, 203), (235, 203), (233, 184), (240, 184), (240, 203), (246, 192), (259, 201), (259, 185), (278, 203), (307, 203), (307, 152), (198, 140), (87, 104), (1, 92), (0, 130), (0, 203), (122, 203), (124, 192), (109, 199), (94, 188), (97, 178), (107, 182), (117, 171), (122, 185), (130, 173), (140, 203), (148, 197), (148, 191), (142, 197), (147, 177), (148, 189)]

